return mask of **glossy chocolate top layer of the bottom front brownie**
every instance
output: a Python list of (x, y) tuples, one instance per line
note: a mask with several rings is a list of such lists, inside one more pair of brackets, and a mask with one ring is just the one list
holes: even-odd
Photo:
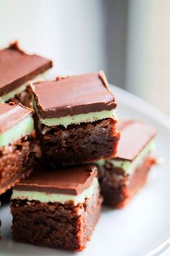
[(95, 166), (76, 166), (58, 170), (38, 168), (14, 186), (14, 190), (79, 195), (97, 176)]

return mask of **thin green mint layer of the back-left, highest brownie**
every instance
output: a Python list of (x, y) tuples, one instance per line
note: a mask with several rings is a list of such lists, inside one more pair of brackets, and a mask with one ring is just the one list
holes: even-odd
[[(45, 74), (46, 72), (42, 73), (42, 74), (38, 74), (34, 80), (38, 79), (38, 78), (44, 78), (45, 77)], [(4, 103), (6, 101), (9, 101), (10, 98), (14, 98), (14, 95), (17, 95), (19, 93), (22, 93), (28, 86), (28, 81), (27, 82), (24, 82), (23, 85), (19, 86), (18, 88), (12, 90), (11, 92), (9, 93), (6, 93), (4, 95), (2, 95), (0, 97), (0, 102)]]

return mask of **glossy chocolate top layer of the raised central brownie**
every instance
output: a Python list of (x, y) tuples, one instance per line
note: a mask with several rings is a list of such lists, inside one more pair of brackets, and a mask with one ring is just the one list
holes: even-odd
[(112, 110), (117, 106), (102, 71), (34, 83), (32, 91), (42, 119)]

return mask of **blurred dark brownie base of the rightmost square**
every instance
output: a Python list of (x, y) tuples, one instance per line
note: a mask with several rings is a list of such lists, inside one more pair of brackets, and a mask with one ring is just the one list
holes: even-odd
[(148, 155), (143, 164), (135, 169), (132, 176), (125, 175), (121, 168), (111, 163), (105, 164), (100, 172), (99, 184), (104, 198), (104, 205), (110, 208), (122, 208), (146, 183), (148, 171), (155, 163), (155, 158)]

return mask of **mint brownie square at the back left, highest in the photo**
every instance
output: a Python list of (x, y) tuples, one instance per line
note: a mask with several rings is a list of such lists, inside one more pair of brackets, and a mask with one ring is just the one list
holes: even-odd
[(0, 50), (0, 102), (22, 103), (30, 106), (29, 80), (52, 67), (52, 61), (37, 55), (26, 54), (18, 43)]

